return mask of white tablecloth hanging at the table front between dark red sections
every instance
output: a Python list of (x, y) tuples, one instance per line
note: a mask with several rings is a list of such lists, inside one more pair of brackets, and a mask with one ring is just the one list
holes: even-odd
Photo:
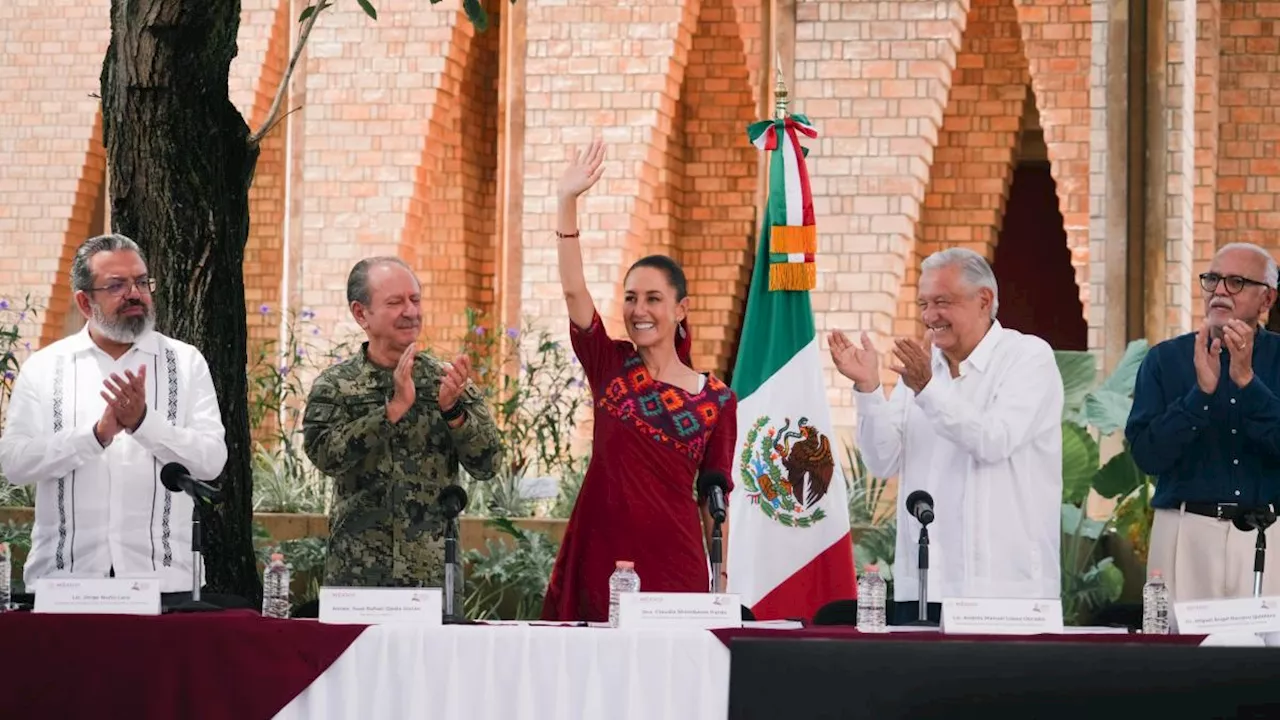
[(728, 659), (707, 630), (376, 625), (276, 717), (723, 720)]

